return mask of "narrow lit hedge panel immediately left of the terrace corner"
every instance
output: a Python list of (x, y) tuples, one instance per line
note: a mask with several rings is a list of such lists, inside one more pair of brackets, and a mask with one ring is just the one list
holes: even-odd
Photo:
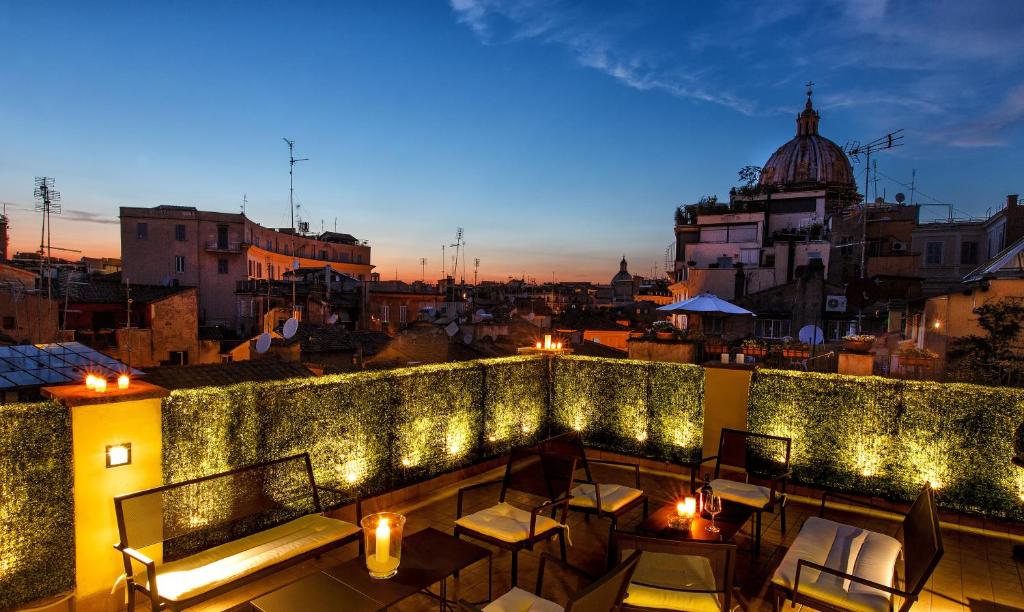
[(481, 359), (484, 457), (548, 436), (550, 361), (543, 355)]

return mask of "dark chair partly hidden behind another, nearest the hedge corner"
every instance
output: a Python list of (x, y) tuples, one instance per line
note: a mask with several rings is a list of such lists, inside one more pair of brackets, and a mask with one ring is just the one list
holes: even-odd
[[(579, 484), (570, 491), (572, 499), (569, 501), (569, 510), (583, 513), (586, 520), (590, 520), (591, 515), (608, 517), (611, 519), (612, 529), (617, 525), (618, 517), (637, 508), (642, 508), (643, 517), (647, 518), (647, 495), (640, 488), (640, 466), (638, 464), (587, 458), (583, 437), (580, 432), (574, 431), (548, 438), (541, 442), (539, 447), (545, 452), (574, 457), (577, 467), (584, 471), (586, 478), (573, 480)], [(633, 472), (633, 482), (630, 483), (633, 486), (598, 483), (591, 474), (591, 464), (630, 470)]]

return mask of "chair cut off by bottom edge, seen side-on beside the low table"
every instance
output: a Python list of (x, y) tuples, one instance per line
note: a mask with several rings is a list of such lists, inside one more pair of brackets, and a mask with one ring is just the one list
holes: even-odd
[[(626, 597), (626, 587), (630, 583), (630, 578), (636, 570), (637, 562), (640, 560), (640, 553), (634, 553), (629, 558), (611, 569), (608, 573), (594, 580), (583, 570), (563, 563), (557, 557), (544, 553), (541, 555), (541, 565), (537, 570), (537, 589), (535, 593), (527, 593), (518, 586), (513, 586), (511, 591), (498, 598), (487, 606), (478, 608), (463, 600), (459, 601), (462, 610), (470, 612), (508, 612), (510, 610), (529, 610), (530, 612), (614, 612), (620, 609), (623, 598)], [(557, 563), (562, 568), (590, 581), (591, 584), (577, 591), (566, 602), (565, 607), (561, 607), (551, 600), (541, 597), (544, 588), (544, 568), (548, 562)]]

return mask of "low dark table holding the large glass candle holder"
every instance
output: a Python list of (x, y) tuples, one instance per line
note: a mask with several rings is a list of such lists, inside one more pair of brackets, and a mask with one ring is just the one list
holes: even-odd
[[(424, 593), (446, 610), (447, 577), (455, 575), (457, 600), (458, 572), (477, 561), (487, 560), (487, 600), (490, 600), (490, 551), (428, 527), (401, 542), (398, 573), (386, 580), (370, 577), (364, 557), (328, 568), (301, 580), (270, 592), (251, 602), (259, 612), (377, 612)], [(429, 587), (439, 583), (439, 594)]]

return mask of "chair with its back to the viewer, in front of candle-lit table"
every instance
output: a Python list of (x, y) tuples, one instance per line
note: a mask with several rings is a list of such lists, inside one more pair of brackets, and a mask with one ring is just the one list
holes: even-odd
[(612, 531), (613, 558), (642, 553), (623, 610), (730, 610), (736, 564), (731, 542), (676, 540)]

